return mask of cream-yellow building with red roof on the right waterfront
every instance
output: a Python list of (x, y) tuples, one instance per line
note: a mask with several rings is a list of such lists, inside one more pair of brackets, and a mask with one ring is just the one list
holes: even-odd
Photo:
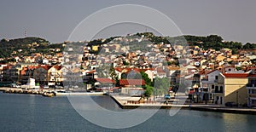
[(247, 104), (248, 83), (247, 73), (220, 73), (218, 86), (215, 87), (215, 103), (224, 105), (226, 102), (235, 102), (238, 105)]

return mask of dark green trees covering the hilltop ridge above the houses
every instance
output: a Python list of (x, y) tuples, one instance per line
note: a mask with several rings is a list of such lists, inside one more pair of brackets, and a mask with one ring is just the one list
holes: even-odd
[[(232, 49), (233, 54), (236, 54), (239, 49), (256, 49), (255, 43), (246, 43), (243, 45), (240, 42), (226, 42), (222, 37), (218, 35), (210, 35), (207, 37), (190, 35), (180, 37), (157, 37), (154, 36), (152, 32), (143, 32), (131, 35), (130, 37), (132, 36), (146, 37), (148, 38), (148, 41), (154, 44), (177, 43), (177, 41), (180, 41), (183, 43), (189, 43), (189, 46), (199, 46), (202, 49)], [(90, 47), (94, 45), (101, 46), (102, 44), (111, 42), (114, 38), (117, 37), (109, 37), (104, 40), (92, 40), (88, 42), (87, 45)], [(5, 58), (6, 60), (11, 61), (14, 56), (29, 56), (34, 53), (40, 53), (43, 55), (54, 55), (56, 52), (62, 52), (64, 50), (63, 44), (65, 43), (49, 43), (49, 41), (39, 37), (25, 37), (11, 40), (2, 39), (0, 41), (0, 58)], [(55, 51), (53, 49), (59, 50)], [(97, 53), (96, 51), (90, 52), (94, 54)]]

